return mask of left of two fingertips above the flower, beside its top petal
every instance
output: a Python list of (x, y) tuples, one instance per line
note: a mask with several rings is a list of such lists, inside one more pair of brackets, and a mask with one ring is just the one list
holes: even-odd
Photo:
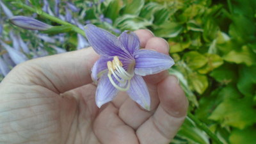
[(148, 29), (138, 29), (136, 31), (134, 31), (134, 33), (136, 33), (136, 35), (139, 37), (140, 39), (140, 47), (145, 47), (145, 45), (147, 44), (147, 41), (154, 37), (154, 34), (152, 33), (152, 31), (148, 30)]

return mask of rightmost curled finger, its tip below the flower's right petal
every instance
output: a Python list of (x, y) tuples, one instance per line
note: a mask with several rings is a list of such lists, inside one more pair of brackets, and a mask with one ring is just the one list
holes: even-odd
[(169, 143), (186, 117), (188, 100), (176, 77), (167, 77), (158, 84), (157, 89), (159, 107), (136, 131), (141, 144)]

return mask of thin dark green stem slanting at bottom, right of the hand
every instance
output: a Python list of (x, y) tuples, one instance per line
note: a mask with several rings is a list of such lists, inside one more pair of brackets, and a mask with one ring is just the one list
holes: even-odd
[(193, 122), (195, 122), (195, 124), (202, 129), (203, 131), (205, 131), (208, 136), (214, 140), (217, 144), (223, 144), (218, 138), (217, 136), (212, 133), (210, 131), (210, 129), (207, 127), (207, 125), (205, 125), (203, 122), (200, 122), (200, 120), (198, 120), (198, 118), (196, 118), (194, 115), (192, 115), (191, 113), (188, 113), (188, 117), (191, 118), (191, 120), (193, 120)]

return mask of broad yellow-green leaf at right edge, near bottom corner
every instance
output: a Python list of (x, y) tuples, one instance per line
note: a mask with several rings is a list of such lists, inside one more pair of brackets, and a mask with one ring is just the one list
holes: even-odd
[(230, 125), (239, 129), (255, 124), (256, 109), (250, 97), (242, 99), (226, 99), (209, 116), (211, 120), (220, 122), (221, 125)]

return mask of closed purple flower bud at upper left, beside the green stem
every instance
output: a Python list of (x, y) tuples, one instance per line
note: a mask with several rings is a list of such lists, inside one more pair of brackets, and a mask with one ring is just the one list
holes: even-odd
[(49, 28), (52, 28), (52, 26), (45, 24), (44, 22), (40, 22), (39, 20), (24, 16), (14, 16), (10, 19), (10, 22), (12, 22), (12, 24), (15, 26), (19, 26), (20, 28), (31, 30), (45, 31)]

